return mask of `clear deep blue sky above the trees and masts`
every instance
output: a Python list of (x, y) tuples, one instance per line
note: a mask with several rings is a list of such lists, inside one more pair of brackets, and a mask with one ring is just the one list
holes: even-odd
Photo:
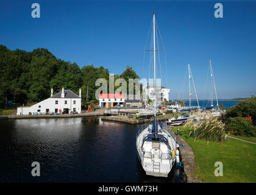
[[(41, 18), (31, 16), (34, 2)], [(216, 2), (222, 2), (224, 18), (214, 17)], [(255, 1), (1, 1), (0, 44), (47, 48), (59, 59), (80, 67), (102, 65), (113, 74), (130, 65), (143, 78), (153, 11), (166, 49), (170, 99), (177, 93), (187, 98), (188, 63), (199, 99), (205, 98), (209, 59), (219, 98), (256, 95)]]

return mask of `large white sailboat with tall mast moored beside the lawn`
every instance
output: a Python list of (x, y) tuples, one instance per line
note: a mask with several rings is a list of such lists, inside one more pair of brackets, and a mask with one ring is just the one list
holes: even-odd
[(154, 34), (154, 120), (152, 124), (141, 127), (137, 133), (137, 156), (144, 171), (149, 176), (168, 177), (176, 162), (176, 138), (158, 124), (156, 117), (156, 80), (155, 80), (155, 13), (153, 13)]

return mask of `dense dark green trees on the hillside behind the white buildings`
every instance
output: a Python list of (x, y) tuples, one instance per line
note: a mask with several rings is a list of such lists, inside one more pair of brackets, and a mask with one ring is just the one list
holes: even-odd
[[(108, 78), (109, 71), (103, 66), (96, 68), (93, 65), (79, 68), (76, 63), (65, 62), (57, 59), (48, 49), (38, 48), (32, 52), (16, 49), (11, 51), (0, 45), (0, 102), (2, 105), (7, 100), (18, 104), (31, 104), (49, 98), (51, 87), (54, 93), (62, 87), (79, 93), (82, 88), (82, 102), (85, 104), (88, 87), (88, 101), (95, 100), (95, 81), (99, 78)], [(119, 77), (138, 79), (132, 67)], [(127, 85), (128, 87), (128, 85)], [(116, 87), (115, 87), (116, 88)]]

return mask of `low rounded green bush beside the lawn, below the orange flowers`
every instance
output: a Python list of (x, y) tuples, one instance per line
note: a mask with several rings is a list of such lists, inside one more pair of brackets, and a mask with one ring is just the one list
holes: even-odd
[(230, 117), (227, 120), (225, 126), (227, 132), (230, 132), (233, 135), (244, 137), (256, 137), (256, 127), (252, 125), (252, 122), (247, 121), (243, 117)]

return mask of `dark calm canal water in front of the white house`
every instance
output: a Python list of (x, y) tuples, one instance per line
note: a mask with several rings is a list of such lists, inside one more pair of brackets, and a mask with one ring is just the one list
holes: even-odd
[[(183, 182), (176, 166), (168, 178), (146, 176), (137, 160), (140, 125), (100, 117), (0, 121), (0, 182)], [(33, 161), (40, 177), (33, 177)]]

